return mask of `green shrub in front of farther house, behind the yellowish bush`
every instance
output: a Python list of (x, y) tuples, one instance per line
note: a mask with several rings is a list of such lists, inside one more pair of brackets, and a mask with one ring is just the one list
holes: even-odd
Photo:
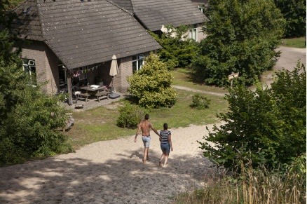
[[(181, 25), (173, 27), (165, 26), (168, 30), (161, 38), (158, 34), (149, 32), (151, 36), (163, 47), (158, 50), (160, 59), (167, 64), (168, 69), (186, 67), (191, 63), (198, 49), (198, 43), (184, 36), (189, 31), (189, 27)], [(184, 40), (183, 40), (184, 39)]]

